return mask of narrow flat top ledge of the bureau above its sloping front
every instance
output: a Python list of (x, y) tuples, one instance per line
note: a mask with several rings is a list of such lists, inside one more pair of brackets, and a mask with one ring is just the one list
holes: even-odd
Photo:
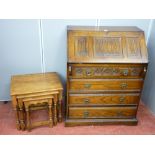
[(114, 31), (114, 32), (137, 32), (142, 31), (136, 26), (67, 26), (67, 30), (74, 31)]

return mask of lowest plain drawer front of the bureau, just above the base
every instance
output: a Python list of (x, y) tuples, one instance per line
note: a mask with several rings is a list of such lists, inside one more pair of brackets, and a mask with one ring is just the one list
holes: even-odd
[(69, 118), (134, 118), (137, 107), (69, 107)]

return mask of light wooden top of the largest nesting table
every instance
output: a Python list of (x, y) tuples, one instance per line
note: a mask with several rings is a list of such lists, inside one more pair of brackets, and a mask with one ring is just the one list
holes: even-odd
[(11, 95), (31, 94), (62, 90), (62, 83), (57, 73), (37, 73), (15, 75), (11, 77)]

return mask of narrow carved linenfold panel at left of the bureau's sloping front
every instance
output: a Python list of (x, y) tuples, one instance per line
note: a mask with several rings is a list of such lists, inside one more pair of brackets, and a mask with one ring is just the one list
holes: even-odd
[(75, 56), (85, 57), (88, 56), (88, 41), (87, 37), (76, 37), (75, 38)]

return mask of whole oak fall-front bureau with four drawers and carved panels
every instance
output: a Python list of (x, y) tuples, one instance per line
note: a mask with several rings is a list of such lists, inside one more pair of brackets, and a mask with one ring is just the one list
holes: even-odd
[(66, 126), (137, 124), (147, 71), (137, 27), (68, 26)]

